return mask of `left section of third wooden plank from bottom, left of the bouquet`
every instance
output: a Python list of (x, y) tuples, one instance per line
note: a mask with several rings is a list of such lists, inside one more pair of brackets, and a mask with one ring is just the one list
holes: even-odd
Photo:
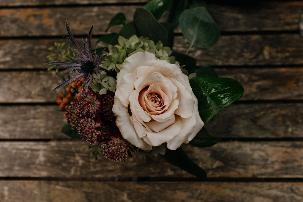
[(0, 106), (0, 139), (69, 139), (63, 113), (54, 105)]

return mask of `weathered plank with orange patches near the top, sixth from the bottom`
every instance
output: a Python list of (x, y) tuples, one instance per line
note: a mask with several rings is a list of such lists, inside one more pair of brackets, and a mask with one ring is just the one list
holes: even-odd
[[(14, 4), (14, 1), (11, 4)], [(105, 3), (108, 1), (110, 0), (106, 0)], [(2, 5), (5, 2), (2, 1)], [(64, 4), (70, 3), (64, 1)], [(81, 4), (87, 3), (88, 1), (83, 1)], [(32, 4), (37, 5), (37, 2), (32, 1)], [(57, 3), (51, 1), (48, 4)], [(94, 25), (94, 34), (105, 34), (108, 22), (116, 13), (124, 12), (128, 21), (131, 21), (138, 7), (141, 5), (2, 8), (0, 9), (2, 22), (0, 36), (66, 35), (65, 20), (68, 20), (76, 35), (86, 35), (91, 25)], [(293, 31), (298, 30), (303, 2), (254, 2), (249, 5), (209, 4), (208, 9), (221, 31)], [(167, 16), (166, 14), (162, 21), (166, 21)], [(180, 28), (177, 28), (176, 32), (181, 33)]]

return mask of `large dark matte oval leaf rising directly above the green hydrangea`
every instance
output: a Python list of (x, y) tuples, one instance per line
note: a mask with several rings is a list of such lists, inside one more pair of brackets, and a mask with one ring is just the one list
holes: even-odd
[(166, 45), (167, 31), (150, 11), (144, 8), (137, 8), (134, 14), (134, 24), (138, 31), (138, 36), (148, 37), (155, 44), (161, 41), (163, 45)]

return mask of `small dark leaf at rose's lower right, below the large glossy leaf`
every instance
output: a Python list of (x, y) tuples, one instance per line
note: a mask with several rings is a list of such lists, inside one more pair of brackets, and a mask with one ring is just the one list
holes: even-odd
[(211, 147), (217, 144), (219, 140), (220, 138), (212, 136), (212, 134), (203, 127), (189, 144), (196, 147)]

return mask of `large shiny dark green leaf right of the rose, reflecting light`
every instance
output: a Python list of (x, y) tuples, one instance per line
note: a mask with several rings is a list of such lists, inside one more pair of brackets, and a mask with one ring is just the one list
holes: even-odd
[(194, 77), (189, 80), (198, 99), (199, 114), (204, 123), (211, 121), (222, 108), (241, 98), (242, 85), (231, 78)]

